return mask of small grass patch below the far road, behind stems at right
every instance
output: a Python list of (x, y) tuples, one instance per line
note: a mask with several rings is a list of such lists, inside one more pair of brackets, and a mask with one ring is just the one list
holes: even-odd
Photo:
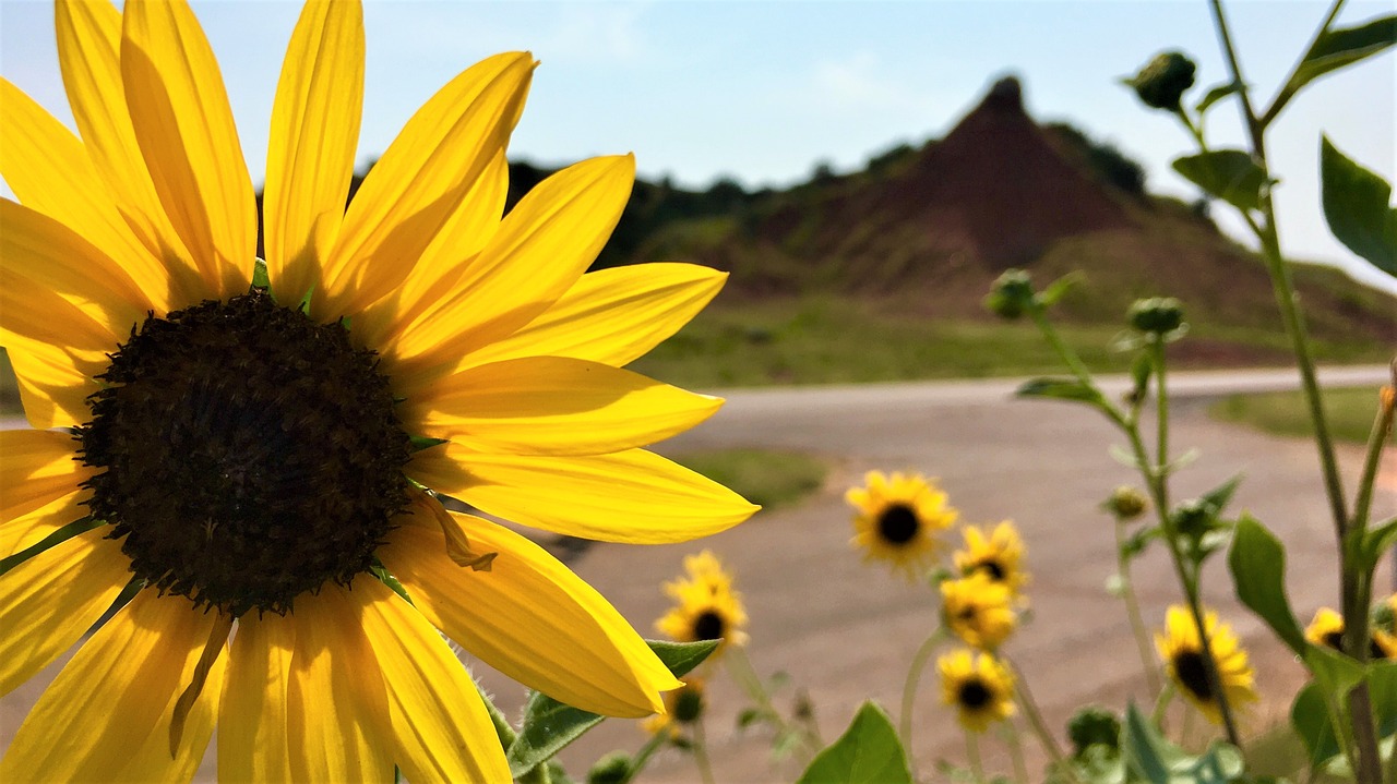
[[(1232, 395), (1208, 409), (1214, 419), (1235, 421), (1277, 435), (1313, 435), (1309, 409), (1299, 391)], [(1338, 441), (1366, 444), (1377, 414), (1377, 388), (1326, 389), (1324, 417)]]

